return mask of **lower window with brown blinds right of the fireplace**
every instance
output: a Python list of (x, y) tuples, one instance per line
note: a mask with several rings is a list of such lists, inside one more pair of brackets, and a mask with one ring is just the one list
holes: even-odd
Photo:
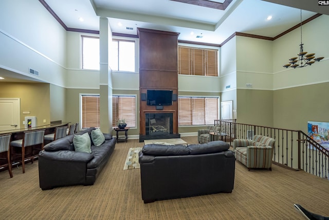
[(178, 97), (179, 126), (213, 124), (218, 112), (218, 98)]

